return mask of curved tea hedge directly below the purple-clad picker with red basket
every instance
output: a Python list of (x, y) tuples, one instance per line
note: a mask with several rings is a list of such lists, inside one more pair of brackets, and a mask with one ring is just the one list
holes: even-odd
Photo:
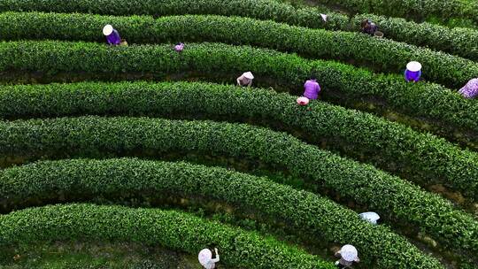
[(389, 163), (395, 163), (397, 170), (407, 167), (420, 180), (427, 179), (426, 185), (444, 184), (478, 201), (478, 156), (474, 152), (368, 113), (322, 102), (312, 102), (307, 111), (297, 106), (296, 98), (260, 88), (197, 82), (16, 85), (0, 88), (0, 119), (84, 114), (266, 119), (304, 130), (305, 135), (329, 138), (330, 146), (346, 155), (354, 147), (362, 155), (379, 156), (384, 169)]

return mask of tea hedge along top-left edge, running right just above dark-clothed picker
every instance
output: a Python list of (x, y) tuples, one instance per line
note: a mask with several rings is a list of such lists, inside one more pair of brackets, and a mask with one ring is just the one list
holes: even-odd
[[(102, 15), (170, 16), (185, 14), (215, 14), (222, 16), (243, 16), (252, 19), (271, 19), (289, 25), (324, 28), (329, 30), (358, 31), (360, 21), (373, 19), (387, 38), (409, 44), (428, 46), (464, 58), (478, 60), (478, 31), (470, 28), (442, 27), (435, 24), (415, 23), (400, 18), (385, 18), (372, 14), (358, 14), (349, 18), (336, 12), (315, 8), (296, 8), (289, 4), (270, 0), (202, 0), (194, 1), (64, 1), (48, 2), (9, 0), (0, 1), (2, 12), (66, 12), (95, 13)], [(324, 22), (320, 13), (328, 15)]]

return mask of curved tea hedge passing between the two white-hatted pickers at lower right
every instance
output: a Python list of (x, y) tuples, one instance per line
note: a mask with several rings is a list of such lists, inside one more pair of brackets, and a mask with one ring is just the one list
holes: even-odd
[(45, 201), (59, 194), (68, 199), (118, 193), (202, 196), (241, 205), (277, 221), (286, 219), (295, 230), (321, 240), (351, 243), (360, 250), (363, 264), (371, 267), (442, 267), (388, 228), (371, 226), (356, 212), (326, 198), (224, 168), (139, 159), (79, 159), (0, 171), (2, 204)]

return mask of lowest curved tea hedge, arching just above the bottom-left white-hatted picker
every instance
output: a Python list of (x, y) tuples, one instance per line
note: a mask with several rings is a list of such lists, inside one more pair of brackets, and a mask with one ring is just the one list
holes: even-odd
[[(179, 211), (93, 204), (49, 205), (0, 216), (0, 246), (38, 241), (142, 242), (197, 254), (215, 244), (220, 262), (243, 268), (334, 268), (271, 237)], [(258, 267), (256, 267), (258, 266)]]

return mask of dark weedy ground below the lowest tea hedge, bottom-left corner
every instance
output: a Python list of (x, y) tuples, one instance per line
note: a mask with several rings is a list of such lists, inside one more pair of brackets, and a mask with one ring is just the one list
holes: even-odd
[[(35, 242), (0, 249), (0, 267), (197, 269), (197, 256), (137, 242)], [(221, 269), (233, 269), (221, 265)]]

